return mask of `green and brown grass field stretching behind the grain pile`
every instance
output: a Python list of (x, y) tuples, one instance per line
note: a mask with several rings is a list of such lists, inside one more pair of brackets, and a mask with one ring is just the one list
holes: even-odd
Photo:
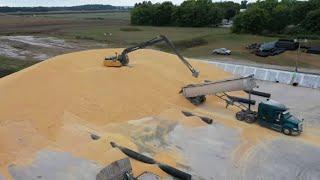
[[(181, 50), (183, 55), (196, 58), (221, 60), (246, 60), (280, 66), (294, 66), (296, 52), (285, 52), (279, 56), (261, 58), (250, 54), (245, 46), (254, 42), (268, 42), (278, 37), (247, 34), (232, 34), (228, 28), (182, 28), (131, 26), (128, 12), (44, 14), (44, 15), (0, 15), (0, 35), (33, 34), (56, 36), (69, 40), (90, 40), (106, 43), (108, 47), (126, 47), (156, 35), (167, 35)], [(107, 34), (107, 36), (105, 36)], [(109, 35), (111, 34), (111, 35)], [(308, 44), (320, 44), (319, 40)], [(212, 56), (215, 48), (232, 50), (227, 59)], [(163, 45), (153, 48), (170, 51)], [(299, 66), (320, 69), (320, 56), (302, 53)]]

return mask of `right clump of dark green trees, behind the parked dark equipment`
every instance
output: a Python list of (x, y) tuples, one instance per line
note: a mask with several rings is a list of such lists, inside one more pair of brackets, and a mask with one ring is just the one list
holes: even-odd
[(319, 34), (320, 0), (265, 0), (248, 4), (234, 18), (236, 33)]

